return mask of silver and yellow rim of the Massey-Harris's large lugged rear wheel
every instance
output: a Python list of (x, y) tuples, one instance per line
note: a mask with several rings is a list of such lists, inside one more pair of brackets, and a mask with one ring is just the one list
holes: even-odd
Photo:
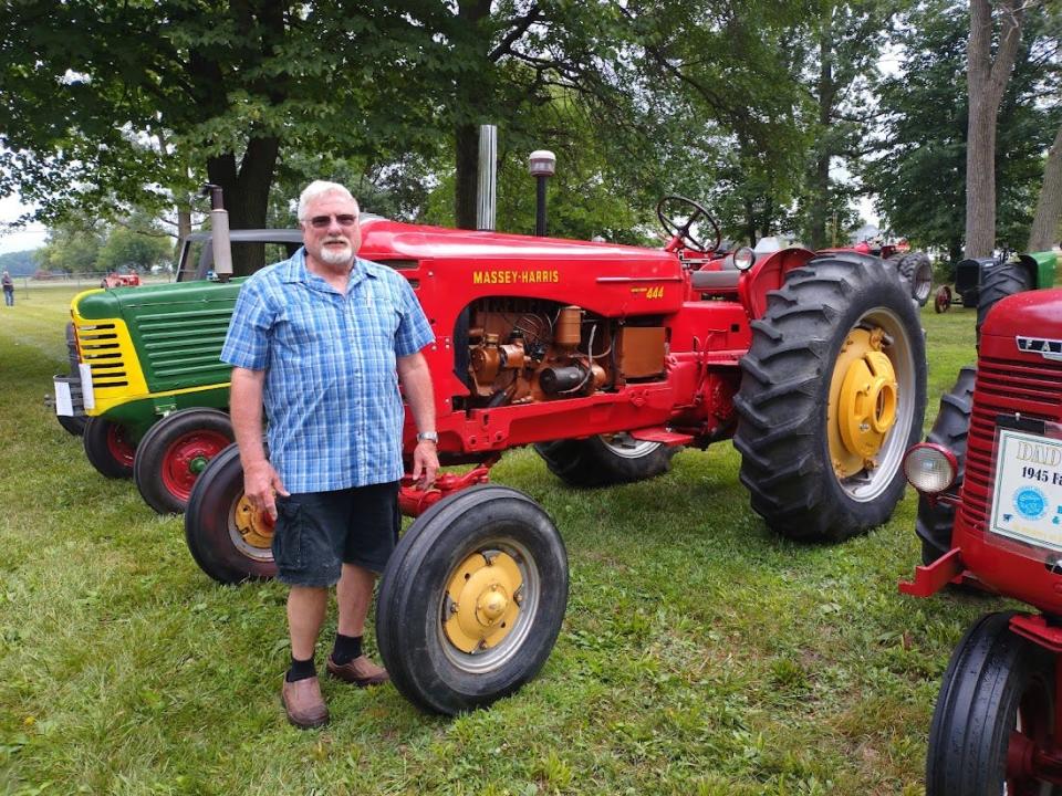
[(834, 364), (826, 417), (834, 474), (850, 498), (875, 500), (893, 481), (915, 415), (915, 358), (891, 310), (866, 313)]

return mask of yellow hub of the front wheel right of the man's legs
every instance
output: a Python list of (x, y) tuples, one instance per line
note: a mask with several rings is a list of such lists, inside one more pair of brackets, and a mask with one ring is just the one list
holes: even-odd
[(462, 561), (446, 586), (442, 629), (462, 652), (499, 645), (517, 621), (523, 578), (511, 556), (491, 551)]

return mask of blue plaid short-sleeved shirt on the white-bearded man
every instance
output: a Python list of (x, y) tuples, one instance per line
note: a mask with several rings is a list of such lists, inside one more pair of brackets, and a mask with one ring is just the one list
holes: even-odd
[(243, 283), (221, 359), (266, 370), (270, 461), (289, 492), (324, 492), (403, 476), (395, 360), (433, 339), (404, 276), (357, 258), (344, 296), (300, 249)]

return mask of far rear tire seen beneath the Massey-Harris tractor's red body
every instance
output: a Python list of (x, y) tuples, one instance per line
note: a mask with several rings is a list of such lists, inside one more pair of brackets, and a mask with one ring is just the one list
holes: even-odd
[(540, 442), (534, 451), (569, 486), (611, 486), (666, 473), (677, 446), (633, 440), (626, 434)]

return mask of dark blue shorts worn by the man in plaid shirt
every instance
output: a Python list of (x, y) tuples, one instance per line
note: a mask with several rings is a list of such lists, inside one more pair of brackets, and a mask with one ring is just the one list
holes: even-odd
[(333, 586), (343, 564), (382, 573), (400, 526), (397, 481), (278, 495), (277, 577), (289, 586)]

